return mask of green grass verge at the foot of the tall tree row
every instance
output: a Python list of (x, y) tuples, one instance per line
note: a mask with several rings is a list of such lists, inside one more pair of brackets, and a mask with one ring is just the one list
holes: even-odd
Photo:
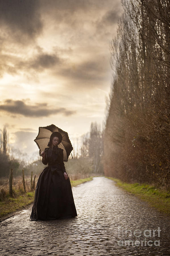
[(170, 193), (157, 189), (152, 185), (139, 183), (125, 183), (119, 179), (106, 177), (116, 182), (116, 186), (121, 187), (140, 198), (142, 201), (148, 202), (151, 207), (156, 208), (159, 212), (170, 215)]

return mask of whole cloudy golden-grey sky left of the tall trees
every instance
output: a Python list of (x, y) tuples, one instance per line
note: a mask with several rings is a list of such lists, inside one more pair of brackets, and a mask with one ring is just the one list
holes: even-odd
[(38, 152), (52, 123), (74, 146), (102, 124), (121, 12), (121, 0), (0, 0), (0, 129), (13, 146)]

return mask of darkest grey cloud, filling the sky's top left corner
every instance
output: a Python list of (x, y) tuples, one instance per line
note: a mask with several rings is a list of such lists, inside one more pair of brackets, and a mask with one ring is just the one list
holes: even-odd
[[(35, 38), (42, 31), (43, 24), (39, 12), (40, 0), (0, 0), (0, 24), (5, 26), (10, 36), (18, 42), (24, 37)], [(22, 38), (23, 39), (23, 38)]]

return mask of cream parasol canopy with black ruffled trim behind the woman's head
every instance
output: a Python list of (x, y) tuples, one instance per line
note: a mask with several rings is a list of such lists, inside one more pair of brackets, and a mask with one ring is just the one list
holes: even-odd
[(50, 136), (53, 132), (59, 132), (62, 136), (62, 141), (58, 145), (59, 148), (63, 149), (63, 161), (67, 162), (71, 151), (73, 150), (71, 141), (69, 139), (69, 135), (67, 132), (63, 131), (62, 129), (58, 128), (57, 126), (51, 124), (45, 127), (39, 127), (39, 133), (36, 139), (34, 140), (40, 149), (39, 154), (45, 150), (49, 143)]

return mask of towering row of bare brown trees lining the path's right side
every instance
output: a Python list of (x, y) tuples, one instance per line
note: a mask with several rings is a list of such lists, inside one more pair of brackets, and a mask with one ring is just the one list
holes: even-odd
[(169, 189), (170, 1), (123, 0), (111, 42), (104, 172)]

